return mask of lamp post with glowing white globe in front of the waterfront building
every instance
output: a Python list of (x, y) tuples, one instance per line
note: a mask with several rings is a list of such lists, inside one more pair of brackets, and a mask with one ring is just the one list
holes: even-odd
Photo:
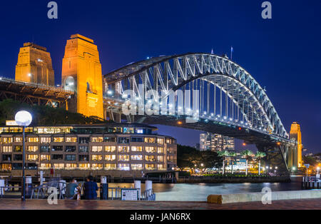
[(16, 123), (19, 126), (22, 126), (22, 132), (23, 132), (23, 158), (22, 158), (22, 189), (21, 189), (21, 200), (26, 200), (26, 176), (24, 170), (26, 169), (25, 159), (26, 159), (26, 153), (25, 153), (25, 128), (26, 126), (29, 126), (32, 121), (32, 116), (28, 111), (19, 111), (16, 113), (16, 116), (14, 118), (16, 120)]

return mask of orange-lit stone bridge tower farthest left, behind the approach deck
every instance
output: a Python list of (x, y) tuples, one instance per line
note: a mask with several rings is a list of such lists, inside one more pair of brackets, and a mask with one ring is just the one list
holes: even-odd
[(16, 63), (16, 81), (54, 86), (54, 69), (50, 53), (43, 46), (24, 43)]

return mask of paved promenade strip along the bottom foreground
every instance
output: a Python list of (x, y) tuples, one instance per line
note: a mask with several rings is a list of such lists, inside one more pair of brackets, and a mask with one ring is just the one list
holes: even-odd
[(0, 210), (321, 210), (320, 199), (277, 200), (272, 205), (262, 203), (208, 204), (206, 202), (133, 202), (119, 200), (58, 200), (58, 205), (49, 205), (47, 200), (2, 199)]

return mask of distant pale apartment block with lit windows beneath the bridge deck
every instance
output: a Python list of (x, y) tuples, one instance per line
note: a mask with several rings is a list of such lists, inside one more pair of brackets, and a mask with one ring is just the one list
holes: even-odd
[(234, 149), (234, 138), (213, 133), (200, 134), (200, 151), (232, 151)]

